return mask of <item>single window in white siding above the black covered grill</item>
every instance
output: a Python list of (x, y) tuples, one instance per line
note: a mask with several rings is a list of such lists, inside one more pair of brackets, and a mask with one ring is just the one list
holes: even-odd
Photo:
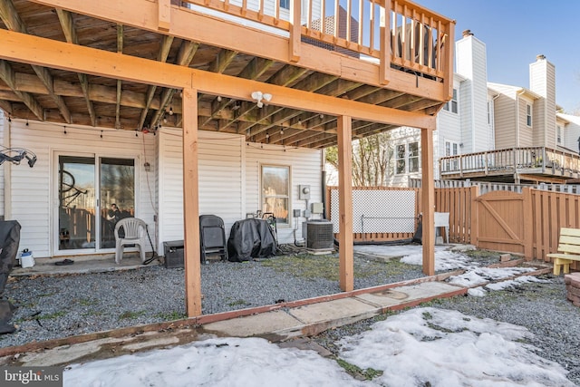
[(262, 166), (262, 213), (272, 213), (276, 224), (288, 225), (290, 167)]

